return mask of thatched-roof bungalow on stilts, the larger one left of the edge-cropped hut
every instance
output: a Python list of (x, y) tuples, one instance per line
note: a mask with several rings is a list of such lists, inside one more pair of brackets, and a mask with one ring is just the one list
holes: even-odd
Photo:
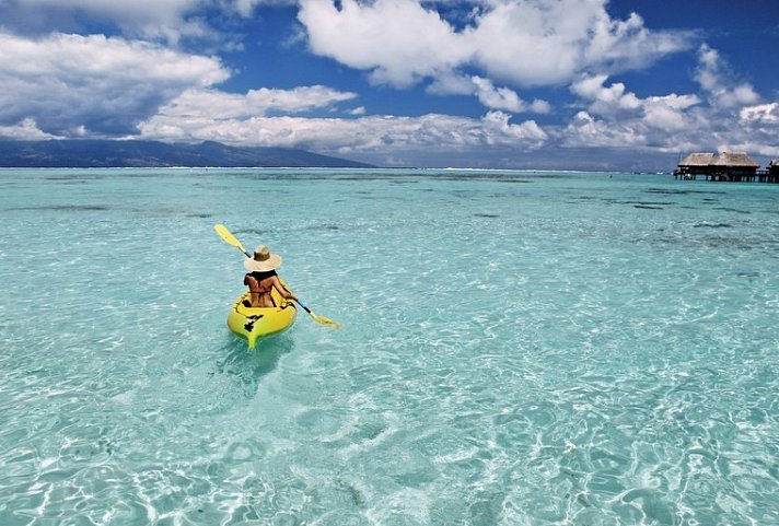
[(704, 176), (706, 180), (753, 182), (759, 167), (746, 153), (690, 153), (679, 162), (674, 176), (683, 179)]

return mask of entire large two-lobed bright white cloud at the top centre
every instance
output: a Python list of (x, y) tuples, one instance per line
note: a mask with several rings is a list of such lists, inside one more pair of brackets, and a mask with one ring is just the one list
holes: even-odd
[(650, 32), (636, 14), (613, 20), (606, 3), (460, 2), (472, 13), (461, 31), (418, 0), (301, 0), (299, 20), (314, 52), (397, 87), (468, 67), (519, 86), (554, 85), (592, 69), (641, 68), (689, 48), (689, 35)]

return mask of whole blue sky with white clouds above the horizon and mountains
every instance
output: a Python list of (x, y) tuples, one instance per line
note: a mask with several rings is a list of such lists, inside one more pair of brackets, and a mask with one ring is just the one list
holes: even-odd
[(779, 159), (779, 2), (0, 0), (0, 137), (383, 166)]

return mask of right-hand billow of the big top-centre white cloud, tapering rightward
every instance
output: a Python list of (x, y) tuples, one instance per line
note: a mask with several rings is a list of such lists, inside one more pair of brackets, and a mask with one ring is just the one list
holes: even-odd
[(636, 14), (612, 20), (606, 3), (496, 1), (473, 32), (476, 62), (519, 85), (554, 85), (592, 69), (642, 68), (688, 47), (686, 35), (650, 32)]

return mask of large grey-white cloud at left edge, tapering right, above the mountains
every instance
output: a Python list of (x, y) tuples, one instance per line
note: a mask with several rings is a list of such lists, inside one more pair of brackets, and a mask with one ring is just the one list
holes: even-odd
[(33, 119), (44, 132), (132, 133), (190, 87), (224, 81), (219, 60), (103, 35), (0, 33), (0, 125)]

